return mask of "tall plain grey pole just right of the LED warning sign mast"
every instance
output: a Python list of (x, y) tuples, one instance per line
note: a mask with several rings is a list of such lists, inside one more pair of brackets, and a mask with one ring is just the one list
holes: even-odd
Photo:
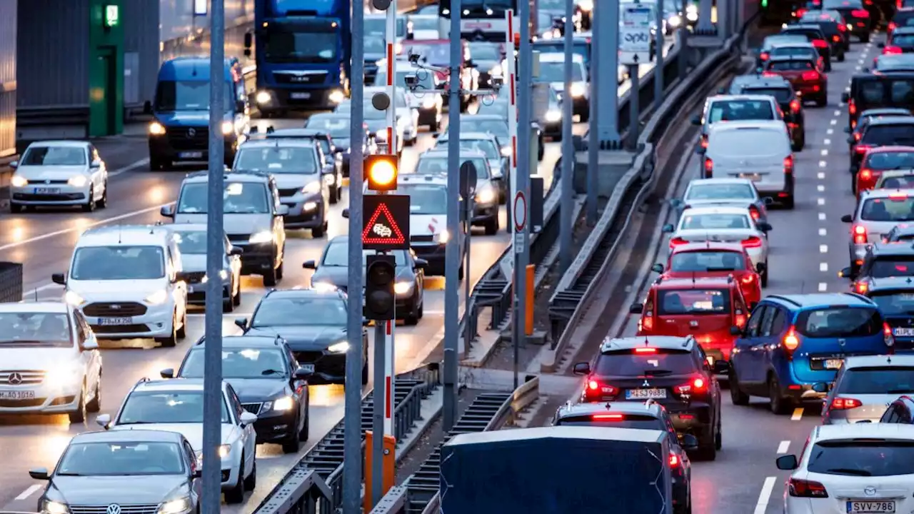
[[(448, 197), (458, 198), (460, 191), (460, 63), (463, 48), (460, 38), (461, 0), (451, 2), (451, 71), (448, 80)], [(460, 346), (460, 299), (457, 269), (461, 266), (462, 234), (459, 202), (449, 202), (447, 219), (450, 238), (444, 250), (444, 434), (457, 423), (457, 352)], [(469, 249), (467, 249), (469, 252)], [(463, 270), (463, 280), (470, 280), (470, 270)]]

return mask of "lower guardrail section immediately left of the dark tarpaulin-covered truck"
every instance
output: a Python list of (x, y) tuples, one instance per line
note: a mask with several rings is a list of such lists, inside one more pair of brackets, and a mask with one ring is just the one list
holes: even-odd
[(404, 486), (392, 487), (371, 514), (431, 514), (441, 508), (441, 446), (457, 434), (499, 430), (513, 423), (539, 397), (539, 377), (527, 375), (513, 392), (484, 392), (463, 412), (451, 432), (444, 436), (419, 471)]

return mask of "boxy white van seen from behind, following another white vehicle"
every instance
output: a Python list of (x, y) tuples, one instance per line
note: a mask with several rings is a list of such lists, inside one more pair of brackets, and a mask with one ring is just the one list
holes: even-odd
[(748, 178), (761, 197), (793, 209), (793, 152), (781, 120), (714, 123), (698, 152), (701, 177)]

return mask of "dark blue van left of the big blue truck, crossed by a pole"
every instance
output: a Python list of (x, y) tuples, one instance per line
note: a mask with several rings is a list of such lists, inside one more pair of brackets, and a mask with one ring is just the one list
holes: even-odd
[[(238, 146), (249, 131), (250, 105), (238, 59), (223, 67), (226, 100), (222, 134), (225, 164), (231, 166)], [(149, 167), (163, 170), (175, 162), (200, 162), (209, 158), (209, 58), (166, 60), (159, 69), (155, 101), (146, 102), (149, 123)]]

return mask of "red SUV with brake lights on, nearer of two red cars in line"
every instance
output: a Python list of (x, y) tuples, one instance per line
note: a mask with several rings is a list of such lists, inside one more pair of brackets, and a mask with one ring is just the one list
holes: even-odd
[(658, 277), (644, 303), (632, 304), (629, 312), (641, 315), (638, 336), (694, 336), (708, 359), (729, 360), (733, 334), (746, 325), (749, 308), (732, 274), (712, 278), (692, 273), (689, 278)]

